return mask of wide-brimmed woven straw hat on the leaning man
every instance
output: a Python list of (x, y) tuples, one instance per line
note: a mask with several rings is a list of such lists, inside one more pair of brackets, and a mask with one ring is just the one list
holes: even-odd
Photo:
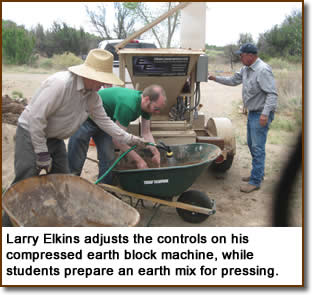
[(69, 67), (68, 70), (91, 80), (107, 84), (124, 85), (124, 82), (113, 73), (113, 58), (109, 51), (92, 49), (83, 64)]

